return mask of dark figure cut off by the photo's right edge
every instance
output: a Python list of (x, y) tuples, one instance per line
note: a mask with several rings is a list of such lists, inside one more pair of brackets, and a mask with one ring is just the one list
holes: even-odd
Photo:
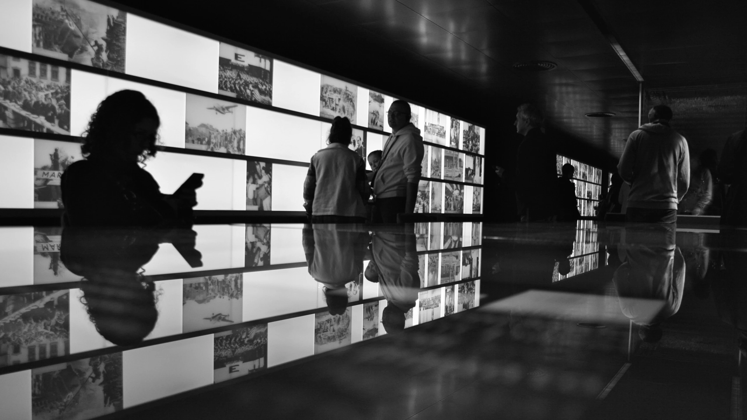
[(719, 178), (729, 186), (721, 216), (722, 226), (747, 226), (747, 129), (726, 139)]

